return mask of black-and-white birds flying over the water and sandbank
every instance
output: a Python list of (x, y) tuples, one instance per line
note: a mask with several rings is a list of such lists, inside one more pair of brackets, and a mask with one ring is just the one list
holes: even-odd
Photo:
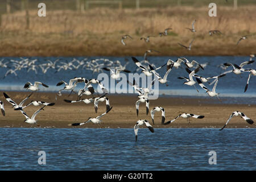
[[(245, 69), (243, 67), (245, 65), (253, 64), (254, 63), (253, 57), (254, 57), (254, 55), (250, 55), (250, 60), (247, 60), (247, 61), (241, 63), (240, 65), (232, 64), (232, 63), (224, 63), (224, 64), (222, 64), (222, 69), (225, 70), (229, 67), (232, 67), (232, 69), (230, 69), (229, 71), (225, 71), (225, 72), (221, 73), (220, 75), (212, 76), (212, 77), (203, 77), (201, 75), (198, 75), (197, 72), (199, 72), (200, 70), (204, 70), (204, 65), (203, 64), (201, 65), (200, 63), (198, 63), (195, 60), (189, 61), (185, 57), (180, 57), (176, 61), (173, 61), (173, 60), (169, 59), (167, 61), (167, 63), (163, 64), (162, 66), (160, 66), (158, 68), (156, 68), (155, 66), (153, 67), (148, 60), (139, 61), (136, 57), (131, 57), (134, 64), (136, 65), (136, 67), (139, 70), (141, 70), (142, 73), (144, 73), (148, 77), (154, 76), (154, 80), (152, 80), (151, 84), (148, 85), (147, 88), (143, 88), (143, 87), (139, 86), (137, 84), (137, 82), (135, 81), (135, 79), (133, 80), (133, 82), (127, 81), (127, 83), (129, 85), (133, 86), (135, 92), (138, 93), (138, 100), (135, 102), (137, 117), (139, 115), (139, 105), (141, 103), (145, 103), (146, 104), (146, 114), (148, 115), (148, 113), (150, 112), (153, 125), (155, 125), (154, 115), (158, 111), (162, 112), (161, 125), (168, 125), (168, 124), (176, 121), (177, 118), (186, 118), (188, 123), (190, 123), (189, 118), (197, 118), (197, 119), (204, 118), (204, 115), (196, 115), (196, 114), (191, 114), (191, 113), (181, 113), (176, 118), (165, 122), (165, 120), (166, 120), (166, 117), (165, 117), (166, 111), (164, 110), (163, 107), (156, 106), (156, 107), (154, 107), (153, 109), (150, 110), (150, 100), (148, 99), (148, 96), (150, 94), (152, 94), (152, 87), (154, 86), (155, 82), (158, 81), (160, 84), (168, 85), (167, 84), (168, 75), (171, 73), (172, 69), (173, 68), (184, 69), (184, 67), (185, 67), (185, 71), (188, 72), (188, 77), (178, 77), (179, 79), (185, 80), (183, 84), (189, 85), (189, 86), (194, 86), (195, 88), (196, 88), (195, 85), (198, 84), (202, 89), (204, 89), (206, 91), (206, 93), (209, 95), (209, 97), (217, 97), (218, 98), (218, 93), (216, 92), (216, 86), (217, 86), (217, 83), (218, 83), (219, 79), (221, 79), (222, 77), (224, 77), (228, 73), (234, 73), (236, 75), (240, 75), (243, 72), (244, 73), (247, 72), (247, 73), (249, 73), (249, 77), (247, 79), (247, 83), (246, 83), (246, 86), (245, 86), (245, 92), (246, 92), (246, 90), (248, 88), (248, 85), (249, 85), (250, 77), (256, 75), (256, 70), (251, 69), (251, 68)], [(73, 59), (71, 61), (72, 64), (74, 64), (75, 61), (76, 60)], [(103, 63), (100, 63), (101, 61)], [(14, 63), (15, 61), (11, 61), (11, 62)], [(26, 62), (26, 63), (24, 63), (24, 62)], [(15, 65), (22, 64), (22, 65), (26, 65), (26, 66), (30, 65), (30, 68), (32, 69), (32, 68), (35, 68), (35, 66), (34, 66), (35, 62), (36, 62), (36, 60), (28, 61), (26, 59), (23, 59), (19, 63), (17, 61), (14, 64)], [(77, 62), (77, 63), (79, 63), (79, 62)], [(55, 64), (55, 63), (53, 63), (53, 64)], [(67, 65), (69, 67), (72, 64), (65, 63), (65, 65)], [(101, 68), (104, 71), (109, 71), (110, 72), (110, 77), (113, 78), (113, 79), (119, 78), (120, 77), (120, 74), (119, 74), (120, 72), (126, 72), (126, 73), (130, 72), (129, 70), (126, 69), (127, 63), (126, 63), (126, 65), (122, 65), (121, 63), (118, 63), (118, 61), (114, 62), (114, 61), (110, 61), (110, 60), (107, 60), (107, 59), (92, 60), (92, 61), (88, 61), (88, 63), (85, 62), (83, 64), (84, 64), (84, 66), (85, 65), (91, 65), (91, 64), (98, 65), (98, 67), (94, 67), (93, 70), (96, 69), (96, 68)], [(81, 65), (83, 65), (83, 64), (81, 64)], [(3, 65), (6, 65), (6, 64), (3, 64)], [(49, 69), (51, 67), (51, 65), (47, 65), (47, 63), (44, 64), (44, 66), (46, 66), (47, 69)], [(166, 68), (166, 72), (164, 73), (163, 76), (160, 76), (159, 69), (162, 69), (162, 68)], [(213, 80), (213, 81), (209, 82), (209, 80)], [(214, 84), (212, 90), (208, 89), (204, 85), (207, 82), (209, 82), (209, 85)], [(76, 88), (77, 84), (80, 84), (80, 83), (84, 83), (84, 88), (82, 88), (82, 89), (78, 90), (78, 92), (76, 92), (75, 88)], [(96, 92), (96, 90), (94, 90), (94, 87), (93, 87), (94, 84), (100, 86), (100, 88), (103, 92), (103, 94), (101, 96), (100, 96), (99, 93)], [(23, 88), (27, 89), (27, 90), (30, 90), (32, 93), (34, 93), (34, 92), (39, 90), (40, 85), (48, 88), (48, 85), (44, 84), (43, 82), (39, 82), (39, 81), (34, 82), (34, 84), (32, 84), (31, 82), (26, 82), (26, 84), (24, 84)], [(81, 125), (84, 125), (85, 123), (88, 123), (88, 122), (92, 122), (92, 123), (95, 123), (95, 124), (100, 124), (101, 123), (100, 118), (103, 117), (105, 114), (108, 114), (109, 111), (112, 110), (112, 106), (110, 106), (109, 98), (107, 97), (107, 94), (109, 93), (108, 89), (106, 89), (105, 86), (101, 83), (101, 81), (97, 80), (96, 78), (92, 78), (92, 79), (88, 80), (84, 77), (74, 77), (71, 80), (69, 80), (68, 83), (61, 80), (56, 84), (56, 86), (61, 86), (61, 85), (64, 85), (64, 87), (62, 89), (60, 89), (59, 92), (56, 93), (56, 99), (57, 99), (57, 96), (61, 96), (61, 91), (68, 90), (70, 92), (70, 94), (71, 93), (76, 93), (77, 94), (77, 100), (75, 100), (75, 101), (64, 100), (65, 102), (68, 102), (68, 103), (71, 103), (71, 104), (76, 103), (76, 102), (84, 102), (85, 104), (93, 104), (96, 113), (97, 113), (97, 110), (98, 110), (98, 104), (100, 102), (104, 102), (104, 101), (106, 103), (105, 113), (102, 113), (102, 114), (98, 115), (96, 118), (88, 118), (85, 122), (72, 123), (69, 126), (81, 126)], [(197, 90), (197, 92), (199, 92), (199, 90)], [(12, 100), (5, 92), (3, 92), (3, 96), (13, 106), (14, 110), (19, 110), (20, 113), (23, 114), (23, 116), (25, 117), (24, 122), (40, 126), (40, 125), (38, 125), (38, 123), (35, 119), (36, 115), (39, 114), (39, 112), (42, 111), (44, 109), (44, 107), (53, 106), (53, 105), (55, 105), (55, 103), (53, 103), (53, 102), (48, 103), (48, 102), (44, 102), (44, 101), (30, 101), (29, 104), (24, 105), (24, 103), (30, 98), (32, 93), (29, 96), (27, 96), (26, 98), (24, 98), (24, 100), (22, 102), (20, 102), (19, 104), (17, 104), (14, 100)], [(70, 94), (69, 94), (69, 96), (70, 96)], [(90, 96), (90, 98), (82, 98), (82, 96)], [(42, 106), (42, 107), (40, 107), (39, 110), (35, 111), (35, 113), (32, 115), (32, 117), (29, 117), (26, 114), (26, 111), (24, 111), (24, 109), (26, 107), (30, 106), (30, 105)], [(0, 101), (0, 106), (1, 106), (2, 114), (5, 116), (5, 109), (4, 109), (2, 101)], [(228, 121), (225, 123), (225, 125), (222, 127), (222, 129), (224, 129), (224, 127), (230, 122), (231, 118), (234, 117), (234, 116), (240, 116), (241, 118), (243, 118), (250, 125), (252, 125), (254, 123), (252, 119), (247, 117), (242, 112), (234, 111), (230, 115)], [(138, 129), (142, 125), (145, 125), (146, 127), (148, 127), (148, 129), (152, 133), (154, 132), (154, 128), (150, 124), (149, 121), (147, 121), (146, 119), (139, 119), (137, 121), (137, 123), (135, 124), (135, 126), (134, 126), (135, 140), (136, 141), (137, 141), (137, 137), (138, 137)], [(222, 130), (222, 129), (220, 129), (220, 130)]]

